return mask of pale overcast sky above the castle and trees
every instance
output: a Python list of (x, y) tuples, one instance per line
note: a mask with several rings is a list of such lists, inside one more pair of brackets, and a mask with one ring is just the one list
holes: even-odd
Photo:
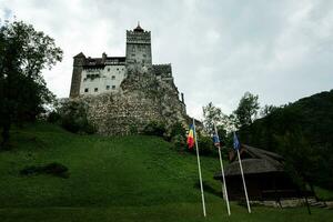
[(58, 97), (69, 95), (73, 56), (124, 56), (138, 21), (196, 118), (210, 101), (232, 112), (245, 91), (280, 105), (333, 88), (332, 0), (1, 0), (0, 18), (12, 16), (63, 49), (43, 71)]

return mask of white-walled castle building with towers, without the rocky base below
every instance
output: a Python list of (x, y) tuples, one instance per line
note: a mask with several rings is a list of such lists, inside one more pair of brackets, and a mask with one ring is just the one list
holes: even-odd
[[(127, 31), (125, 57), (102, 53), (101, 58), (87, 58), (80, 52), (73, 59), (70, 98), (119, 91), (128, 70), (135, 65), (152, 70), (158, 78), (173, 84), (171, 64), (152, 64), (151, 32), (139, 23), (135, 29)], [(184, 102), (182, 93), (181, 100)]]

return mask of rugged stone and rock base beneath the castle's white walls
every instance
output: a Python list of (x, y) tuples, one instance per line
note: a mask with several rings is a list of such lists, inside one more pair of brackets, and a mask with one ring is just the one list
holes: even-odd
[(175, 85), (158, 79), (152, 70), (132, 70), (120, 88), (118, 92), (75, 99), (87, 103), (88, 119), (99, 134), (140, 132), (151, 121), (186, 124), (185, 105)]

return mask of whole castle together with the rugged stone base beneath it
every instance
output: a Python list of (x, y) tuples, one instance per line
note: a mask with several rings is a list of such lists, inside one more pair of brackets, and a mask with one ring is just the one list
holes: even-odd
[(125, 57), (73, 58), (70, 100), (88, 104), (100, 134), (129, 134), (149, 122), (186, 122), (171, 64), (152, 64), (151, 32), (140, 24), (127, 31)]

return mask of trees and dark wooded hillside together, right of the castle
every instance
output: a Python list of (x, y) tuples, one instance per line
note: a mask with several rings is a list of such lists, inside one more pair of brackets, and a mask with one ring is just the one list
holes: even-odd
[(203, 123), (232, 147), (231, 132), (242, 143), (280, 153), (285, 170), (301, 188), (333, 189), (333, 90), (281, 107), (260, 108), (259, 97), (246, 92), (238, 108), (226, 115), (213, 103), (203, 108)]

